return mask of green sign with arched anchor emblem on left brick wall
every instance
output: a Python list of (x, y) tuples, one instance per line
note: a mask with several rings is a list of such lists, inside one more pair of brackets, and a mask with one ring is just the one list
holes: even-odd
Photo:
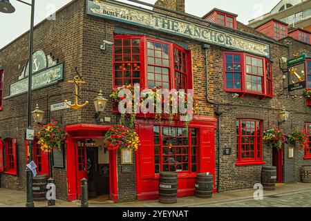
[[(50, 54), (46, 55), (43, 50), (36, 50), (32, 54), (32, 90), (44, 88), (57, 83), (63, 79), (64, 64), (57, 64)], [(23, 66), (19, 81), (10, 84), (10, 95), (12, 97), (28, 91), (29, 61)]]

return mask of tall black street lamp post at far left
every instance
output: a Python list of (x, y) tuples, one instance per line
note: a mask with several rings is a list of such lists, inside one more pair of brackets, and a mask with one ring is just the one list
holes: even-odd
[[(27, 113), (27, 126), (31, 129), (31, 88), (32, 88), (32, 53), (33, 53), (33, 26), (34, 26), (34, 16), (35, 16), (35, 0), (31, 0), (31, 4), (25, 1), (17, 0), (28, 6), (31, 6), (31, 18), (30, 18), (30, 41), (29, 41), (29, 69), (28, 69), (28, 113)], [(13, 13), (15, 8), (12, 6), (9, 0), (0, 0), (0, 12), (3, 13)], [(31, 150), (31, 141), (28, 140), (29, 151)], [(31, 151), (30, 151), (31, 153)], [(31, 161), (31, 154), (30, 159)], [(27, 202), (26, 207), (34, 207), (35, 204), (32, 200), (32, 174), (30, 169), (26, 167), (26, 179), (27, 179)]]

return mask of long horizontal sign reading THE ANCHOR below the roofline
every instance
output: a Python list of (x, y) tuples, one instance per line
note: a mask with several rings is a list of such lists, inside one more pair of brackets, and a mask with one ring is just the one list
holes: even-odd
[(130, 23), (134, 26), (159, 30), (207, 44), (244, 50), (270, 57), (270, 46), (238, 35), (216, 30), (198, 23), (162, 15), (158, 12), (129, 6), (120, 2), (88, 0), (88, 15)]

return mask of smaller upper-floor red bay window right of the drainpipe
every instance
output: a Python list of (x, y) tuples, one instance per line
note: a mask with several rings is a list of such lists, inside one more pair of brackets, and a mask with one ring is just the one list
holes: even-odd
[(226, 92), (272, 97), (272, 62), (241, 52), (224, 52)]

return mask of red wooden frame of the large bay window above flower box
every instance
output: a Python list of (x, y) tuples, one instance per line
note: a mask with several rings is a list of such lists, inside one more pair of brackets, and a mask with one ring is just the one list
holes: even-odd
[[(148, 88), (148, 46), (147, 42), (155, 42), (160, 44), (167, 44), (169, 46), (169, 89), (176, 88), (175, 81), (175, 69), (174, 69), (174, 49), (181, 50), (186, 54), (186, 74), (187, 74), (187, 84), (186, 89), (192, 89), (192, 74), (191, 74), (191, 51), (186, 50), (172, 43), (171, 41), (163, 41), (153, 37), (147, 37), (142, 35), (114, 35), (114, 39), (140, 39), (140, 88)], [(118, 61), (117, 61), (118, 62)], [(120, 87), (115, 85), (115, 45), (113, 45), (113, 88)]]

